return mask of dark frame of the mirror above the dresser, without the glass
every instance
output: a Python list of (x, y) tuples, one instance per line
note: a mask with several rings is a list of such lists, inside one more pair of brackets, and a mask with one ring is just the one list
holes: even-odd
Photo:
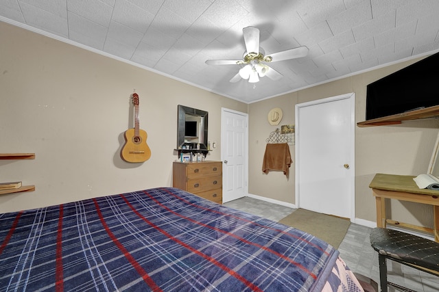
[[(200, 148), (206, 149), (207, 145), (207, 130), (209, 121), (209, 112), (202, 111), (201, 109), (194, 109), (192, 107), (186, 107), (185, 105), (178, 105), (178, 116), (177, 116), (177, 148), (180, 148), (185, 144), (185, 122), (186, 115), (198, 116), (201, 118), (202, 135), (200, 137)], [(195, 146), (196, 148), (196, 146)]]

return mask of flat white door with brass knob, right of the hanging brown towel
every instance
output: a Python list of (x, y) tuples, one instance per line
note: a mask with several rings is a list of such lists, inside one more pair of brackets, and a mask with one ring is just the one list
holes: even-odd
[(296, 105), (296, 202), (355, 219), (355, 94)]

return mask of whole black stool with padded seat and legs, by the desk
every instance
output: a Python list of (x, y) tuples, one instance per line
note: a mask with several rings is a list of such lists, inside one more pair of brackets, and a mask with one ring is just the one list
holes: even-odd
[(439, 276), (439, 243), (435, 241), (397, 230), (374, 228), (370, 233), (370, 245), (378, 252), (379, 280), (383, 292), (388, 291), (388, 285), (401, 291), (416, 292), (388, 282), (387, 258)]

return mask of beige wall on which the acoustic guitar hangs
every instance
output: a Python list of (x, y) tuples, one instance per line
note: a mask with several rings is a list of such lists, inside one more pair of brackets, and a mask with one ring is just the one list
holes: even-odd
[[(0, 196), (0, 213), (150, 187), (170, 186), (177, 105), (209, 111), (209, 140), (219, 146), (221, 107), (248, 105), (0, 22), (0, 152), (35, 152), (35, 160), (0, 160), (0, 181), (36, 191)], [(119, 157), (132, 125), (130, 94), (140, 97), (140, 128), (152, 157)], [(131, 119), (131, 120), (130, 120)]]

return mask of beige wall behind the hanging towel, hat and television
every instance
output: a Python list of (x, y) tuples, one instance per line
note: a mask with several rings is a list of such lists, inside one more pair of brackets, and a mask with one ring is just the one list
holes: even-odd
[[(294, 124), (294, 105), (320, 98), (355, 92), (355, 121), (365, 120), (366, 85), (418, 61), (395, 64), (353, 77), (314, 86), (291, 94), (249, 105), (250, 159), (249, 193), (294, 204), (294, 166), (289, 180), (281, 172), (261, 172), (265, 139), (281, 124)], [(416, 98), (416, 96), (414, 96)], [(273, 107), (283, 109), (279, 126), (270, 126), (267, 114)], [(427, 172), (438, 135), (437, 120), (403, 122), (395, 126), (355, 127), (355, 214), (375, 222), (375, 199), (368, 185), (376, 173), (418, 175)], [(294, 146), (290, 151), (294, 153)], [(423, 204), (392, 201), (388, 212), (395, 219), (432, 227), (432, 208)]]

